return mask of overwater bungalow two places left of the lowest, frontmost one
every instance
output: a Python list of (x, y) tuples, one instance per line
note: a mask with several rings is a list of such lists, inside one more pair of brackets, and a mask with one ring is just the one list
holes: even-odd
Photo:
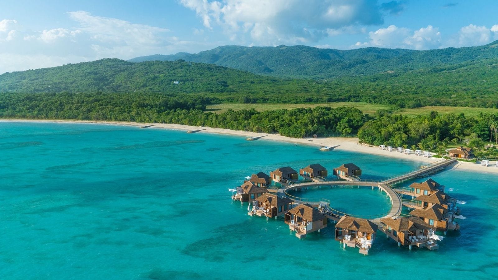
[(290, 209), (292, 199), (288, 197), (278, 197), (275, 194), (263, 193), (252, 201), (252, 210), (248, 215), (265, 216), (267, 218), (277, 218)]

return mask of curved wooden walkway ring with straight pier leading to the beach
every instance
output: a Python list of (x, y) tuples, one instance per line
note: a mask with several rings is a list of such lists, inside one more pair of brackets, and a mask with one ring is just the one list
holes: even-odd
[[(298, 203), (308, 203), (310, 205), (316, 205), (316, 206), (321, 206), (324, 209), (326, 209), (326, 216), (330, 219), (338, 220), (341, 216), (344, 215), (349, 215), (352, 217), (357, 217), (357, 218), (364, 218), (364, 219), (369, 219), (375, 224), (380, 224), (380, 220), (383, 218), (397, 218), (401, 214), (401, 210), (403, 208), (401, 196), (394, 190), (392, 189), (392, 186), (390, 185), (391, 183), (398, 183), (404, 180), (409, 180), (414, 177), (417, 177), (421, 174), (427, 173), (427, 172), (437, 172), (442, 170), (442, 168), (446, 167), (448, 164), (451, 164), (455, 162), (456, 159), (443, 159), (428, 165), (423, 165), (419, 169), (406, 172), (401, 175), (393, 176), (390, 178), (387, 178), (383, 181), (373, 181), (373, 180), (359, 180), (359, 181), (345, 181), (345, 180), (325, 180), (325, 181), (316, 181), (316, 182), (296, 182), (293, 183), (289, 186), (281, 187), (279, 188), (276, 192), (279, 196), (286, 196), (289, 197), (290, 199), (294, 200), (295, 202)], [(330, 206), (330, 201), (328, 199), (307, 199), (307, 198), (302, 198), (302, 197), (297, 197), (290, 195), (288, 193), (289, 190), (296, 190), (296, 189), (302, 189), (302, 188), (308, 188), (308, 187), (319, 187), (319, 186), (336, 186), (336, 185), (341, 185), (341, 186), (369, 186), (369, 187), (377, 187), (379, 190), (383, 191), (386, 193), (386, 195), (390, 198), (391, 200), (391, 209), (383, 214), (380, 215), (369, 215), (369, 216), (358, 216), (358, 215), (350, 215), (338, 210), (335, 210)]]

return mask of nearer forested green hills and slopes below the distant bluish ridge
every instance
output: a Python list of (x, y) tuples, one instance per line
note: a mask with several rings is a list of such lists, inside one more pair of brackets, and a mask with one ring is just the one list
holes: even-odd
[[(185, 61), (102, 59), (0, 75), (0, 93), (201, 94), (221, 103), (367, 102), (420, 106), (498, 107), (498, 59), (406, 73), (333, 81), (280, 79)], [(174, 82), (178, 81), (176, 85)]]

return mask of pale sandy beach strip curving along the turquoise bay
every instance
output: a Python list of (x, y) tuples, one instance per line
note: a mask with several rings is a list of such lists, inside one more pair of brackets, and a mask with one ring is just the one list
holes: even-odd
[[(368, 146), (358, 143), (358, 138), (343, 138), (343, 137), (334, 137), (334, 138), (291, 138), (286, 136), (281, 136), (279, 134), (263, 134), (263, 133), (253, 133), (253, 132), (245, 132), (245, 131), (234, 131), (230, 129), (220, 129), (220, 128), (210, 128), (210, 127), (193, 127), (187, 125), (177, 125), (177, 124), (153, 124), (153, 123), (133, 123), (133, 122), (112, 122), (112, 121), (84, 121), (84, 120), (33, 120), (33, 119), (0, 119), (0, 122), (9, 122), (9, 123), (79, 123), (79, 124), (101, 124), (101, 125), (115, 125), (115, 126), (128, 126), (128, 127), (144, 127), (151, 126), (147, 129), (171, 129), (171, 130), (180, 130), (180, 131), (193, 131), (193, 130), (201, 130), (197, 133), (210, 133), (210, 134), (219, 134), (219, 135), (232, 135), (232, 136), (242, 136), (242, 137), (258, 137), (266, 135), (263, 140), (272, 140), (272, 141), (280, 141), (280, 142), (290, 142), (296, 144), (304, 144), (308, 146), (315, 146), (319, 148), (320, 146), (336, 146), (334, 148), (337, 150), (346, 150), (346, 151), (354, 151), (360, 153), (368, 153), (375, 154), (380, 156), (394, 157), (399, 159), (408, 159), (408, 160), (416, 160), (424, 162), (425, 164), (432, 163), (440, 160), (441, 158), (435, 157), (423, 157), (421, 155), (415, 154), (404, 154), (396, 151), (387, 151), (381, 150), (376, 146)], [(327, 151), (324, 151), (327, 152)], [(331, 151), (332, 152), (332, 151)], [(459, 161), (457, 164), (453, 165), (451, 169), (457, 170), (472, 170), (483, 173), (496, 173), (498, 174), (498, 168), (493, 166), (484, 167), (480, 164), (473, 162), (463, 162)]]

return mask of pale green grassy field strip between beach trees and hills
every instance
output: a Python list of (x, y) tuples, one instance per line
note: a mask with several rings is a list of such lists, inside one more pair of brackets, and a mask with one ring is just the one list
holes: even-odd
[[(295, 109), (295, 108), (315, 108), (317, 106), (328, 106), (332, 108), (337, 108), (341, 106), (351, 106), (360, 109), (365, 114), (373, 114), (380, 109), (390, 109), (389, 105), (379, 105), (379, 104), (369, 104), (362, 102), (335, 102), (335, 103), (309, 103), (309, 104), (267, 104), (267, 103), (257, 103), (257, 104), (217, 104), (207, 106), (207, 112), (223, 113), (229, 109), (232, 110), (242, 110), (254, 108), (257, 111), (268, 111), (268, 110), (278, 110), (278, 109)], [(449, 107), (449, 106), (427, 106), (414, 109), (401, 109), (394, 111), (395, 114), (402, 114), (408, 116), (416, 115), (427, 115), (431, 111), (436, 111), (439, 114), (464, 113), (466, 116), (477, 116), (479, 113), (491, 113), (498, 114), (498, 109), (487, 109), (487, 108), (470, 108), (470, 107)]]

